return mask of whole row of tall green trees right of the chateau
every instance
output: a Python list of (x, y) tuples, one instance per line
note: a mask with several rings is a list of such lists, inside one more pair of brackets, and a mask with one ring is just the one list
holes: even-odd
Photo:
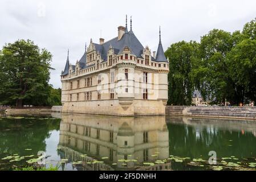
[(255, 101), (255, 41), (256, 19), (242, 33), (214, 29), (200, 43), (172, 44), (165, 52), (170, 60), (168, 104), (190, 105), (195, 89), (216, 104)]

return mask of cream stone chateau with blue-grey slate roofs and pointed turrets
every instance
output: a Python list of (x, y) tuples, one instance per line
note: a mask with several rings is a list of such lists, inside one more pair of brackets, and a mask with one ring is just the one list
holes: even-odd
[[(169, 61), (159, 32), (151, 52), (131, 28), (119, 26), (116, 38), (90, 42), (75, 65), (67, 57), (61, 75), (63, 112), (107, 115), (165, 115)], [(68, 52), (69, 54), (69, 52)]]

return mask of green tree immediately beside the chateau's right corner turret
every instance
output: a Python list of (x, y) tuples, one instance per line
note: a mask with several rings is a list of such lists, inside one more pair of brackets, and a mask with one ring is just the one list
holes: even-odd
[(170, 45), (165, 52), (169, 58), (169, 100), (171, 105), (190, 105), (193, 82), (190, 76), (192, 62), (197, 60), (198, 43), (178, 42)]

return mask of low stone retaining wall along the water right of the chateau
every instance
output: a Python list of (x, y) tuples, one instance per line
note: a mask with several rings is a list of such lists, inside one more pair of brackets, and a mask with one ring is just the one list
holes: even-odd
[(166, 115), (256, 119), (256, 107), (166, 106)]

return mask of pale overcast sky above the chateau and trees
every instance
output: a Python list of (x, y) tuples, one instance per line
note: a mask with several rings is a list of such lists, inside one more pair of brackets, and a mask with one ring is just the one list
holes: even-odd
[[(133, 32), (143, 46), (156, 51), (159, 26), (164, 49), (180, 40), (200, 40), (213, 28), (242, 30), (256, 17), (255, 0), (0, 0), (0, 47), (18, 39), (31, 39), (53, 55), (50, 83), (61, 86), (60, 73), (70, 49), (75, 64), (85, 44), (99, 43), (117, 36), (125, 26), (125, 15), (132, 16)], [(128, 24), (129, 26), (129, 24)], [(101, 32), (101, 33), (100, 33)]]

